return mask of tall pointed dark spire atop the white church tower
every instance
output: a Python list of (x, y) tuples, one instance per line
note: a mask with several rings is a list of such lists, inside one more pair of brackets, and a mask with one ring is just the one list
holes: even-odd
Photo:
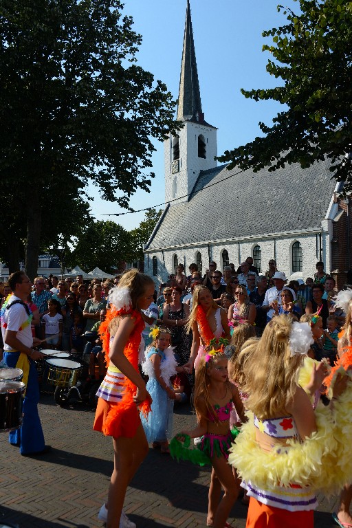
[(201, 111), (201, 93), (199, 90), (189, 0), (187, 0), (186, 23), (184, 28), (184, 48), (182, 51), (181, 76), (179, 78), (177, 120), (204, 122), (204, 114)]

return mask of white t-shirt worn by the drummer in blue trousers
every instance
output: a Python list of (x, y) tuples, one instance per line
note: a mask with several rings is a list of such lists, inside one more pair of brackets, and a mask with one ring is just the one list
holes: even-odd
[[(8, 300), (8, 305), (14, 302), (14, 300), (21, 300), (19, 297), (12, 295)], [(4, 309), (3, 315), (1, 316), (1, 332), (3, 334), (3, 349), (5, 351), (12, 351), (10, 345), (5, 343), (6, 330), (17, 332), (17, 339), (25, 345), (25, 347), (32, 347), (33, 336), (30, 325), (23, 325), (28, 320), (28, 314), (25, 311), (23, 305), (13, 305), (10, 309)], [(4, 326), (5, 325), (5, 326)], [(20, 330), (21, 326), (24, 326)]]

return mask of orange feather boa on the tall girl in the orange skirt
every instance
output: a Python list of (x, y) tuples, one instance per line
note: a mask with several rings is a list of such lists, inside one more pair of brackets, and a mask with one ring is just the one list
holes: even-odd
[[(142, 331), (144, 329), (144, 320), (142, 319), (142, 316), (140, 315), (140, 312), (133, 309), (126, 310), (121, 309), (117, 310), (115, 307), (111, 307), (107, 311), (107, 316), (105, 320), (102, 322), (99, 328), (99, 334), (102, 338), (102, 347), (105, 353), (105, 362), (109, 363), (109, 348), (110, 348), (110, 333), (109, 333), (109, 323), (113, 320), (115, 317), (121, 317), (124, 315), (129, 315), (131, 318), (135, 319), (135, 326), (133, 328), (133, 331), (131, 332), (131, 335), (129, 336), (129, 341), (126, 344), (126, 347), (124, 347), (124, 355), (127, 360), (131, 363), (133, 366), (133, 369), (135, 371), (138, 371), (138, 349), (140, 347), (140, 341), (142, 336)], [(104, 421), (104, 425), (102, 426), (102, 432), (104, 434), (107, 434), (109, 436), (113, 436), (111, 433), (113, 430), (116, 430), (119, 426), (119, 423), (122, 420), (123, 412), (131, 408), (131, 406), (135, 406), (135, 402), (133, 401), (133, 395), (135, 395), (135, 392), (137, 391), (137, 388), (135, 384), (133, 384), (128, 377), (125, 378), (124, 382), (124, 395), (122, 396), (122, 400), (119, 402), (118, 406), (113, 406), (109, 410), (107, 417)], [(151, 410), (151, 397), (147, 397), (142, 404), (139, 406), (140, 412), (143, 413), (144, 416), (148, 414)]]

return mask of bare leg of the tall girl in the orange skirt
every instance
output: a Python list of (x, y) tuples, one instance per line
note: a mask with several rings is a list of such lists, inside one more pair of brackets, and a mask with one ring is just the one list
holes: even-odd
[(107, 528), (119, 527), (127, 486), (148, 453), (148, 442), (142, 423), (135, 437), (114, 438), (113, 451), (114, 469), (109, 486)]

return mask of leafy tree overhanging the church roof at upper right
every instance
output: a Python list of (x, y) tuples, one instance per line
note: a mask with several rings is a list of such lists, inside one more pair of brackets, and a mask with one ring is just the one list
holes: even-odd
[[(256, 101), (286, 104), (272, 126), (259, 123), (264, 137), (226, 151), (219, 159), (230, 168), (269, 170), (331, 159), (331, 172), (352, 188), (352, 166), (347, 155), (352, 137), (352, 3), (348, 0), (300, 0), (300, 14), (285, 10), (288, 23), (263, 33), (273, 59), (267, 72), (284, 85), (242, 93)], [(278, 10), (283, 9), (278, 6)]]

